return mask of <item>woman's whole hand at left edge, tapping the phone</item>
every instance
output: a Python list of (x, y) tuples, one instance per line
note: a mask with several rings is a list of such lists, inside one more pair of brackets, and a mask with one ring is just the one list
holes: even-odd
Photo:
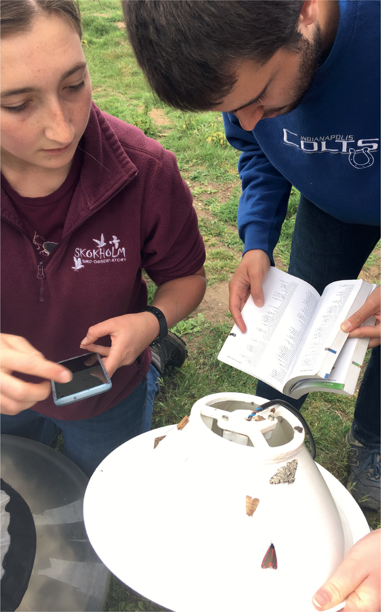
[(13, 371), (53, 379), (56, 383), (69, 383), (72, 373), (53, 361), (45, 359), (28, 340), (21, 336), (1, 334), (0, 404), (2, 414), (18, 414), (31, 408), (37, 401), (46, 400), (51, 384), (25, 383), (12, 376)]

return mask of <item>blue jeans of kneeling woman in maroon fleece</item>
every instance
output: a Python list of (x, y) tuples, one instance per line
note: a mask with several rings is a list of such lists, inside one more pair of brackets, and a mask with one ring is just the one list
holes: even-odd
[(50, 444), (61, 430), (66, 457), (90, 477), (112, 450), (151, 428), (158, 378), (158, 371), (151, 365), (146, 381), (141, 381), (116, 406), (92, 419), (53, 419), (31, 408), (15, 416), (2, 414), (1, 433)]

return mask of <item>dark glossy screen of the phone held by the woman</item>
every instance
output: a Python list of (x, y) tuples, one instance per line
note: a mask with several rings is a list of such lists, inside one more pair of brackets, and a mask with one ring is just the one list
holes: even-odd
[(95, 354), (81, 355), (61, 363), (72, 371), (73, 378), (70, 383), (55, 383), (57, 399), (107, 383), (102, 366)]

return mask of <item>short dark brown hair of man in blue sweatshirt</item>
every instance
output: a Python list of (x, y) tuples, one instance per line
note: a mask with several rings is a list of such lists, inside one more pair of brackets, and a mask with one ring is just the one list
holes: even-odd
[(303, 0), (124, 0), (130, 44), (151, 88), (180, 110), (207, 110), (240, 60), (298, 50)]

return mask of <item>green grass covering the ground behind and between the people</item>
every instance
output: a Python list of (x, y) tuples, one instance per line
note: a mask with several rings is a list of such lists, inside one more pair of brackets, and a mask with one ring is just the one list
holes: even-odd
[[(194, 201), (200, 206), (199, 226), (207, 249), (208, 285), (230, 280), (240, 261), (243, 244), (236, 230), (240, 184), (236, 170), (239, 153), (224, 138), (219, 113), (181, 113), (160, 102), (137, 66), (116, 0), (80, 1), (83, 15), (83, 49), (89, 64), (93, 98), (102, 110), (140, 127), (166, 149), (175, 152)], [(102, 13), (95, 15), (94, 13)], [(150, 114), (164, 111), (166, 122), (155, 125)], [(227, 192), (224, 190), (228, 189)], [(225, 195), (228, 193), (228, 195)], [(274, 255), (277, 265), (287, 269), (299, 193), (293, 188), (287, 217)], [(379, 282), (380, 245), (364, 266), (371, 279)], [(149, 302), (155, 287), (148, 279)], [(193, 322), (192, 322), (193, 321)], [(162, 380), (153, 414), (153, 427), (179, 422), (189, 414), (194, 402), (214, 392), (235, 391), (254, 394), (257, 381), (222, 364), (217, 354), (232, 327), (232, 319), (220, 323), (202, 321), (190, 315), (183, 334), (189, 358), (182, 368)], [(369, 354), (369, 351), (368, 351)], [(303, 416), (315, 438), (317, 461), (343, 484), (348, 474), (345, 433), (353, 419), (355, 397), (329, 393), (310, 394), (303, 405)], [(366, 512), (372, 527), (380, 525), (379, 513)], [(111, 581), (105, 610), (164, 610), (138, 595), (116, 578)]]

